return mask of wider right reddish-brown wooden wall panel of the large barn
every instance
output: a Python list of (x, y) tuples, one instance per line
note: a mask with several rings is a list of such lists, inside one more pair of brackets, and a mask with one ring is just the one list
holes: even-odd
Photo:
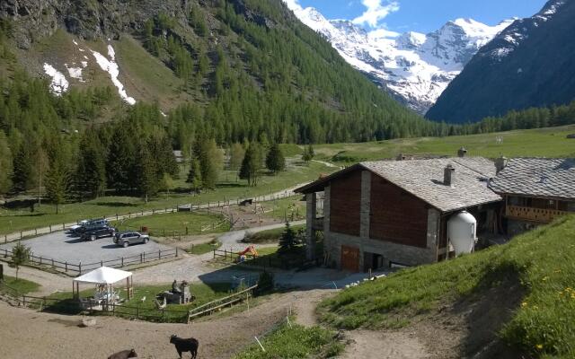
[(425, 202), (373, 173), (370, 202), (371, 239), (426, 247), (429, 206)]

